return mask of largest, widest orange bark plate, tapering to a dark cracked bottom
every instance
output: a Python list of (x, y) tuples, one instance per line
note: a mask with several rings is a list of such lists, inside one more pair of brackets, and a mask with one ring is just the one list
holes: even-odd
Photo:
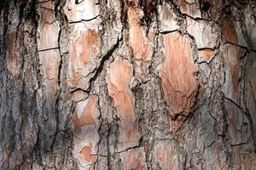
[(160, 69), (165, 97), (174, 113), (189, 112), (195, 102), (197, 82), (189, 37), (173, 32), (164, 35), (166, 59)]

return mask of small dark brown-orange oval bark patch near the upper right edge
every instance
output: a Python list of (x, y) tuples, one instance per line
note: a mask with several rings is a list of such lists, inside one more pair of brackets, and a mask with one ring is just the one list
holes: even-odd
[(222, 31), (228, 42), (238, 43), (236, 28), (230, 20), (224, 19), (222, 23)]

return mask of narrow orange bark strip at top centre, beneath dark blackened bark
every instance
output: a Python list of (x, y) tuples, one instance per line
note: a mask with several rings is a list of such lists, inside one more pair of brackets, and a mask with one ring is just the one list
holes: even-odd
[(129, 41), (136, 57), (145, 60), (148, 58), (148, 38), (143, 26), (139, 25), (139, 12), (138, 8), (128, 8)]

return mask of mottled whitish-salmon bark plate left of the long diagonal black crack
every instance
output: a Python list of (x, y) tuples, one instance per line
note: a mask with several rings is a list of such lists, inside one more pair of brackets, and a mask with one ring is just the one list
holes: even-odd
[(73, 38), (70, 46), (69, 87), (84, 88), (89, 81), (85, 77), (91, 71), (96, 62), (96, 56), (100, 53), (100, 37), (95, 30), (86, 29), (78, 31), (77, 37)]

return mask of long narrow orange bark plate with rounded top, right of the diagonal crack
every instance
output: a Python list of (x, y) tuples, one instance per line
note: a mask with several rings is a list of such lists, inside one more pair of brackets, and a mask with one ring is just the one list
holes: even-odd
[(109, 94), (113, 98), (114, 106), (117, 108), (121, 121), (120, 144), (122, 144), (122, 147), (125, 147), (127, 144), (137, 143), (139, 139), (137, 124), (135, 122), (134, 99), (129, 89), (131, 76), (131, 65), (128, 65), (122, 60), (115, 60), (110, 65), (106, 77)]

